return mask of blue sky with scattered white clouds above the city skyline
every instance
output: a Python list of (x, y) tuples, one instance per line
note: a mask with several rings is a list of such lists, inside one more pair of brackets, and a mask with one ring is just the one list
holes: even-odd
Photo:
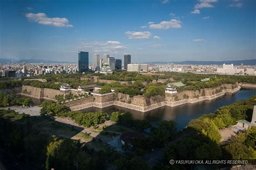
[(255, 59), (256, 1), (1, 1), (0, 58)]

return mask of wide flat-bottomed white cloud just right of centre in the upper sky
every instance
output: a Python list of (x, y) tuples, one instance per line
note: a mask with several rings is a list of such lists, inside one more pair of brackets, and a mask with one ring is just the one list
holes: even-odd
[(181, 28), (180, 24), (181, 22), (178, 21), (177, 19), (171, 19), (170, 21), (162, 21), (159, 24), (150, 24), (149, 27), (151, 29), (162, 29), (162, 30), (166, 30), (170, 28), (179, 29)]

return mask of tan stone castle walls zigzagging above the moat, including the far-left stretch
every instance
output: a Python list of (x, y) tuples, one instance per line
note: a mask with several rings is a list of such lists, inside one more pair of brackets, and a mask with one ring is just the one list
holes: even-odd
[[(72, 101), (65, 104), (69, 106), (71, 110), (82, 110), (89, 107), (107, 107), (107, 106), (120, 106), (129, 108), (132, 110), (137, 110), (141, 112), (150, 111), (154, 108), (161, 106), (178, 106), (186, 103), (197, 103), (204, 100), (212, 100), (223, 96), (224, 94), (232, 94), (240, 90), (240, 86), (235, 87), (231, 84), (225, 84), (222, 87), (213, 87), (210, 89), (204, 89), (205, 96), (203, 95), (203, 90), (197, 91), (183, 91), (177, 94), (166, 94), (165, 96), (153, 96), (151, 98), (145, 98), (144, 96), (134, 96), (130, 97), (127, 94), (122, 93), (107, 93), (107, 94), (97, 94), (92, 93), (92, 97), (84, 98), (77, 101)], [(219, 92), (221, 90), (221, 92)], [(26, 91), (26, 92), (25, 92)], [(23, 86), (22, 92), (26, 96), (32, 96), (36, 98), (45, 99), (55, 99), (58, 94), (63, 94), (59, 90), (53, 89), (41, 89), (32, 86)], [(217, 93), (218, 92), (218, 93)], [(186, 94), (186, 98), (184, 98)], [(178, 100), (175, 97), (178, 97)]]

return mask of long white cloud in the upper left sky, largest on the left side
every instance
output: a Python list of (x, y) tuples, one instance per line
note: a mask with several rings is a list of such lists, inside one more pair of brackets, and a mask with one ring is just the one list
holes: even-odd
[(35, 21), (38, 24), (43, 25), (52, 25), (57, 27), (73, 27), (73, 25), (69, 24), (69, 20), (66, 18), (48, 18), (45, 13), (26, 13), (26, 18), (29, 21)]

